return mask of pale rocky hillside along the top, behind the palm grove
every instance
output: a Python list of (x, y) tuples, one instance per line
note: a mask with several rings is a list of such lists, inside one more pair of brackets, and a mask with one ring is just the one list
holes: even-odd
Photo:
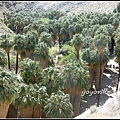
[(0, 16), (3, 11), (60, 10), (68, 14), (80, 12), (112, 12), (119, 1), (0, 1)]

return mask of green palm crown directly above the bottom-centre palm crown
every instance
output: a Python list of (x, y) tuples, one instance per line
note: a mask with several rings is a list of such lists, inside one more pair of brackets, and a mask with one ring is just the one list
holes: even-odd
[(47, 87), (47, 93), (51, 96), (52, 92), (56, 93), (58, 90), (63, 90), (63, 79), (59, 69), (55, 67), (47, 67), (43, 70), (43, 78), (41, 82)]

